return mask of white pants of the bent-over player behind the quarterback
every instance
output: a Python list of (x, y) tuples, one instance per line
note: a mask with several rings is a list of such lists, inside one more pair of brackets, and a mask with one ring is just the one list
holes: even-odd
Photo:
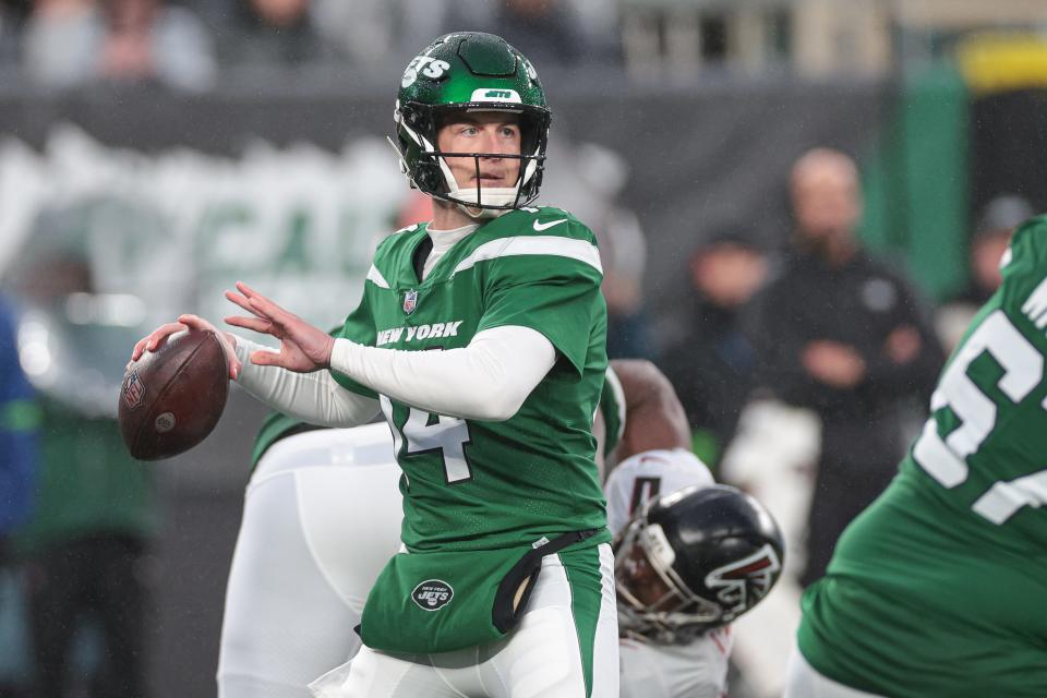
[(309, 698), (351, 658), (368, 592), (400, 546), (385, 424), (288, 436), (248, 484), (218, 659), (219, 698)]

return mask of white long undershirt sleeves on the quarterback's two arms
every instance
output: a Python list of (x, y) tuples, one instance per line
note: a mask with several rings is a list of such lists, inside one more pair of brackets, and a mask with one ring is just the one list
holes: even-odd
[[(326, 426), (354, 426), (378, 412), (373, 398), (338, 385), (329, 371), (294, 373), (250, 362), (265, 347), (237, 337), (243, 364), (237, 382), (274, 409)], [(553, 344), (521, 326), (478, 333), (469, 346), (446, 351), (402, 351), (336, 339), (338, 371), (399, 402), (465, 419), (506, 420), (516, 414), (556, 361)]]

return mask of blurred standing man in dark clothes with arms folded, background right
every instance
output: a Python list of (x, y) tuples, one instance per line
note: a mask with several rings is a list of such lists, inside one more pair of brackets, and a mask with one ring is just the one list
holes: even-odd
[(792, 256), (760, 293), (751, 328), (762, 382), (822, 421), (803, 581), (825, 573), (837, 538), (894, 474), (901, 402), (929, 396), (941, 366), (937, 336), (907, 281), (861, 249), (857, 168), (817, 148), (790, 179)]

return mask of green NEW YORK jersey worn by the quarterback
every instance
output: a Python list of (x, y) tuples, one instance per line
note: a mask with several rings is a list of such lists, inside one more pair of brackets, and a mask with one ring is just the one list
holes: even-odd
[(426, 234), (412, 226), (378, 245), (341, 336), (447, 350), (484, 329), (522, 326), (547, 337), (557, 360), (501, 422), (433, 414), (333, 372), (342, 386), (378, 397), (393, 429), (404, 543), (411, 552), (483, 550), (603, 528), (592, 419), (607, 365), (606, 306), (592, 232), (558, 208), (515, 209), (457, 242), (420, 281), (412, 257)]

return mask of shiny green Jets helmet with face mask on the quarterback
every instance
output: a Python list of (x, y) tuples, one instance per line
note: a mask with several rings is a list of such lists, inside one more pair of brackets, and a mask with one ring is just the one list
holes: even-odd
[[(519, 115), (520, 155), (442, 153), (436, 132), (455, 111), (507, 111)], [(413, 186), (442, 201), (476, 210), (504, 210), (526, 206), (542, 183), (549, 141), (549, 107), (538, 73), (519, 51), (493, 34), (456, 32), (440, 37), (404, 71), (397, 94), (397, 142), (400, 169)], [(390, 139), (392, 142), (392, 139)], [(472, 157), (477, 188), (462, 190), (444, 159)], [(482, 188), (482, 157), (518, 159), (515, 186)]]

